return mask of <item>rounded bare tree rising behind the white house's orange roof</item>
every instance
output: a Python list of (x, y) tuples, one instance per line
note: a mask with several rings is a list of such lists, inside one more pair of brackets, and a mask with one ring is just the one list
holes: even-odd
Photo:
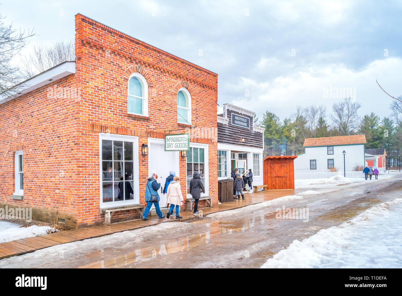
[(359, 128), (361, 118), (357, 115), (357, 110), (361, 104), (353, 101), (350, 97), (338, 103), (332, 104), (331, 120), (340, 135), (351, 135)]

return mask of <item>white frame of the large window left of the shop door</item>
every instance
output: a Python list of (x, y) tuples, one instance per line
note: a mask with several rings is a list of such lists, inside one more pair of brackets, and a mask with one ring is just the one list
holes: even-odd
[[(133, 170), (136, 172), (135, 178), (133, 178), (134, 186), (134, 199), (127, 201), (111, 201), (108, 203), (103, 203), (103, 186), (102, 186), (102, 140), (114, 140), (114, 141), (127, 141), (133, 142)], [(138, 205), (139, 204), (139, 165), (138, 165), (138, 137), (133, 136), (123, 136), (123, 135), (111, 135), (106, 133), (99, 134), (99, 198), (100, 198), (100, 208), (111, 208), (124, 205)]]

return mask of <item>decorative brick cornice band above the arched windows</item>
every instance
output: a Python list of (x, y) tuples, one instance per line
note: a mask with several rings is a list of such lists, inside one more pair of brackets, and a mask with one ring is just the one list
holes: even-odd
[[(217, 90), (217, 87), (215, 87), (213, 85), (209, 85), (209, 84), (206, 84), (206, 83), (204, 83), (202, 81), (199, 81), (197, 79), (187, 77), (187, 76), (185, 76), (185, 75), (183, 75), (183, 74), (181, 74), (179, 72), (173, 72), (170, 69), (167, 69), (167, 68), (164, 68), (164, 67), (162, 67), (160, 65), (151, 63), (151, 62), (146, 61), (146, 60), (143, 60), (142, 58), (135, 57), (135, 56), (133, 56), (131, 54), (122, 52), (121, 50), (117, 50), (115, 48), (107, 48), (105, 45), (100, 44), (100, 43), (98, 43), (98, 42), (96, 42), (94, 40), (90, 40), (88, 38), (79, 39), (79, 40), (81, 40), (81, 43), (82, 43), (83, 46), (90, 46), (90, 47), (93, 47), (93, 48), (95, 48), (97, 50), (108, 52), (109, 54), (114, 54), (115, 56), (118, 56), (120, 58), (124, 58), (128, 62), (133, 62), (133, 63), (137, 64), (138, 66), (141, 66), (141, 68), (143, 68), (143, 67), (153, 68), (154, 70), (160, 71), (161, 73), (164, 73), (166, 75), (175, 76), (175, 77), (177, 77), (179, 79), (183, 79), (183, 80), (185, 80), (185, 81), (187, 81), (189, 83), (194, 83), (194, 84), (197, 84), (197, 85), (199, 85), (201, 87), (212, 89), (214, 91)], [(80, 59), (80, 58), (78, 58), (78, 59)]]

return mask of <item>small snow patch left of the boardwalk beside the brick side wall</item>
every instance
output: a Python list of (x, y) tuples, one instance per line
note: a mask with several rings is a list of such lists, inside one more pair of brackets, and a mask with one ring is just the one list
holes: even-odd
[(33, 225), (29, 227), (20, 227), (20, 225), (15, 223), (0, 221), (0, 243), (46, 234), (46, 231), (50, 229), (49, 226)]

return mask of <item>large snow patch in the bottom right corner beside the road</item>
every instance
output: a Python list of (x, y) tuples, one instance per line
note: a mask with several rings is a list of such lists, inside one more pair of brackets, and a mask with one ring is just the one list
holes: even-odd
[(401, 210), (400, 198), (381, 203), (340, 226), (294, 240), (261, 268), (402, 267)]

